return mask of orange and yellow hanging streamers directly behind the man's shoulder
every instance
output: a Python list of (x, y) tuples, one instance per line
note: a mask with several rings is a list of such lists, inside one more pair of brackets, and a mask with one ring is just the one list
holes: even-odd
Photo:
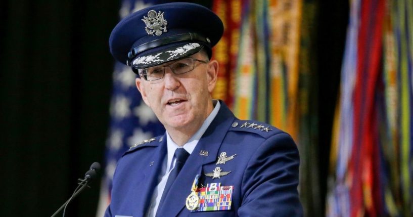
[[(308, 65), (301, 64), (299, 68), (298, 64), (303, 49), (300, 43), (305, 40), (308, 45), (311, 40), (308, 26), (301, 26), (301, 11), (308, 13), (305, 21), (314, 19), (314, 6), (308, 4), (303, 10), (301, 0), (213, 3), (213, 10), (225, 26), (224, 36), (214, 49), (222, 73), (214, 96), (226, 93), (223, 99), (237, 117), (270, 122), (293, 136), (300, 153), (304, 153), (300, 175), (304, 210), (319, 215), (318, 173), (311, 171), (311, 167), (318, 167), (317, 145), (310, 145), (318, 132), (311, 127), (316, 117), (308, 108), (309, 102), (316, 104), (309, 90), (316, 76), (311, 76), (314, 72), (309, 69), (308, 59)], [(302, 29), (307, 35), (301, 35)], [(228, 45), (231, 46), (225, 47)], [(307, 50), (301, 54), (309, 56), (310, 48), (304, 49)]]

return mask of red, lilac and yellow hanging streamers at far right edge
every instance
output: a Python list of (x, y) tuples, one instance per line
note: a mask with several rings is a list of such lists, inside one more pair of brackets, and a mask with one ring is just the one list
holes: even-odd
[(350, 3), (327, 216), (412, 216), (413, 3)]

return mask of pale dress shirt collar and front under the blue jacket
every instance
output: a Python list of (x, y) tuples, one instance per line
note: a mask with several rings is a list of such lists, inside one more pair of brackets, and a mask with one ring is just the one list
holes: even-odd
[(185, 143), (182, 147), (176, 145), (176, 143), (173, 142), (171, 137), (169, 136), (169, 133), (166, 132), (166, 143), (167, 143), (168, 152), (165, 156), (164, 162), (162, 164), (162, 170), (159, 175), (160, 177), (162, 177), (161, 181), (158, 183), (158, 186), (156, 186), (155, 188), (154, 194), (152, 195), (150, 207), (147, 211), (148, 217), (155, 217), (156, 215), (156, 211), (158, 210), (158, 205), (159, 205), (159, 202), (161, 201), (162, 193), (163, 193), (163, 190), (165, 189), (165, 185), (166, 185), (166, 181), (168, 180), (169, 173), (175, 166), (175, 162), (176, 162), (176, 159), (174, 157), (175, 150), (177, 148), (185, 148), (185, 150), (189, 154), (192, 154), (192, 152), (195, 149), (195, 146), (197, 146), (198, 144), (198, 141), (201, 139), (202, 135), (204, 135), (209, 124), (211, 124), (216, 114), (218, 114), (219, 108), (221, 107), (218, 100), (213, 100), (213, 104), (215, 105), (215, 107), (212, 110), (212, 112), (208, 115), (208, 117), (205, 119), (202, 126), (198, 129), (198, 131), (194, 134), (194, 136), (192, 136), (188, 140), (188, 142)]

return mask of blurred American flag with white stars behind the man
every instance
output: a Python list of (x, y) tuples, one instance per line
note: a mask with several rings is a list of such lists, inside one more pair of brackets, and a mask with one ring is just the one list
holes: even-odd
[[(163, 1), (123, 0), (119, 10), (120, 18), (130, 13)], [(135, 85), (136, 75), (132, 70), (115, 63), (113, 91), (110, 106), (111, 121), (105, 150), (105, 171), (97, 216), (104, 215), (110, 202), (112, 178), (118, 159), (135, 143), (162, 135), (164, 127), (141, 98)]]

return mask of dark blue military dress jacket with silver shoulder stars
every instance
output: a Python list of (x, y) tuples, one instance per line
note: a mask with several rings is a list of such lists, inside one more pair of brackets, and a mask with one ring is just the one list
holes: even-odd
[[(172, 184), (157, 216), (302, 216), (297, 192), (299, 155), (290, 135), (264, 123), (239, 120), (220, 103), (217, 116)], [(217, 164), (223, 152), (234, 157)], [(165, 155), (163, 135), (122, 156), (105, 216), (145, 216)], [(218, 166), (222, 171), (219, 178), (205, 175)], [(186, 208), (197, 175), (204, 186), (234, 186), (230, 210), (191, 212)]]

